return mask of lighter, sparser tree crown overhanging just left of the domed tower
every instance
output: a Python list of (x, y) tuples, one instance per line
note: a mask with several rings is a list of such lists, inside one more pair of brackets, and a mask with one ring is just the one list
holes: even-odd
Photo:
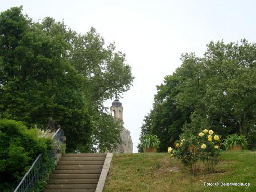
[(120, 97), (134, 79), (130, 66), (124, 63), (125, 54), (114, 50), (114, 43), (104, 47), (104, 39), (94, 28), (72, 38), (70, 62), (88, 80), (87, 97), (99, 105), (106, 99)]

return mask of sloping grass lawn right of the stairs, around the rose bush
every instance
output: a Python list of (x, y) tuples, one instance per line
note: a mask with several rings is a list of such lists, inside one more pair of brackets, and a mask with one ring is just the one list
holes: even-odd
[[(216, 169), (214, 174), (193, 176), (168, 153), (114, 154), (103, 191), (256, 191), (256, 152), (221, 152)], [(216, 182), (250, 186), (215, 186)]]

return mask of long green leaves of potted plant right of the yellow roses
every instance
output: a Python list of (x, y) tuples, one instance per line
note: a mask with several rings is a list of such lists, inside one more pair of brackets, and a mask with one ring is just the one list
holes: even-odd
[(239, 135), (237, 133), (228, 135), (227, 138), (224, 140), (223, 143), (226, 150), (236, 146), (241, 145), (242, 149), (248, 148), (248, 142), (245, 135)]

